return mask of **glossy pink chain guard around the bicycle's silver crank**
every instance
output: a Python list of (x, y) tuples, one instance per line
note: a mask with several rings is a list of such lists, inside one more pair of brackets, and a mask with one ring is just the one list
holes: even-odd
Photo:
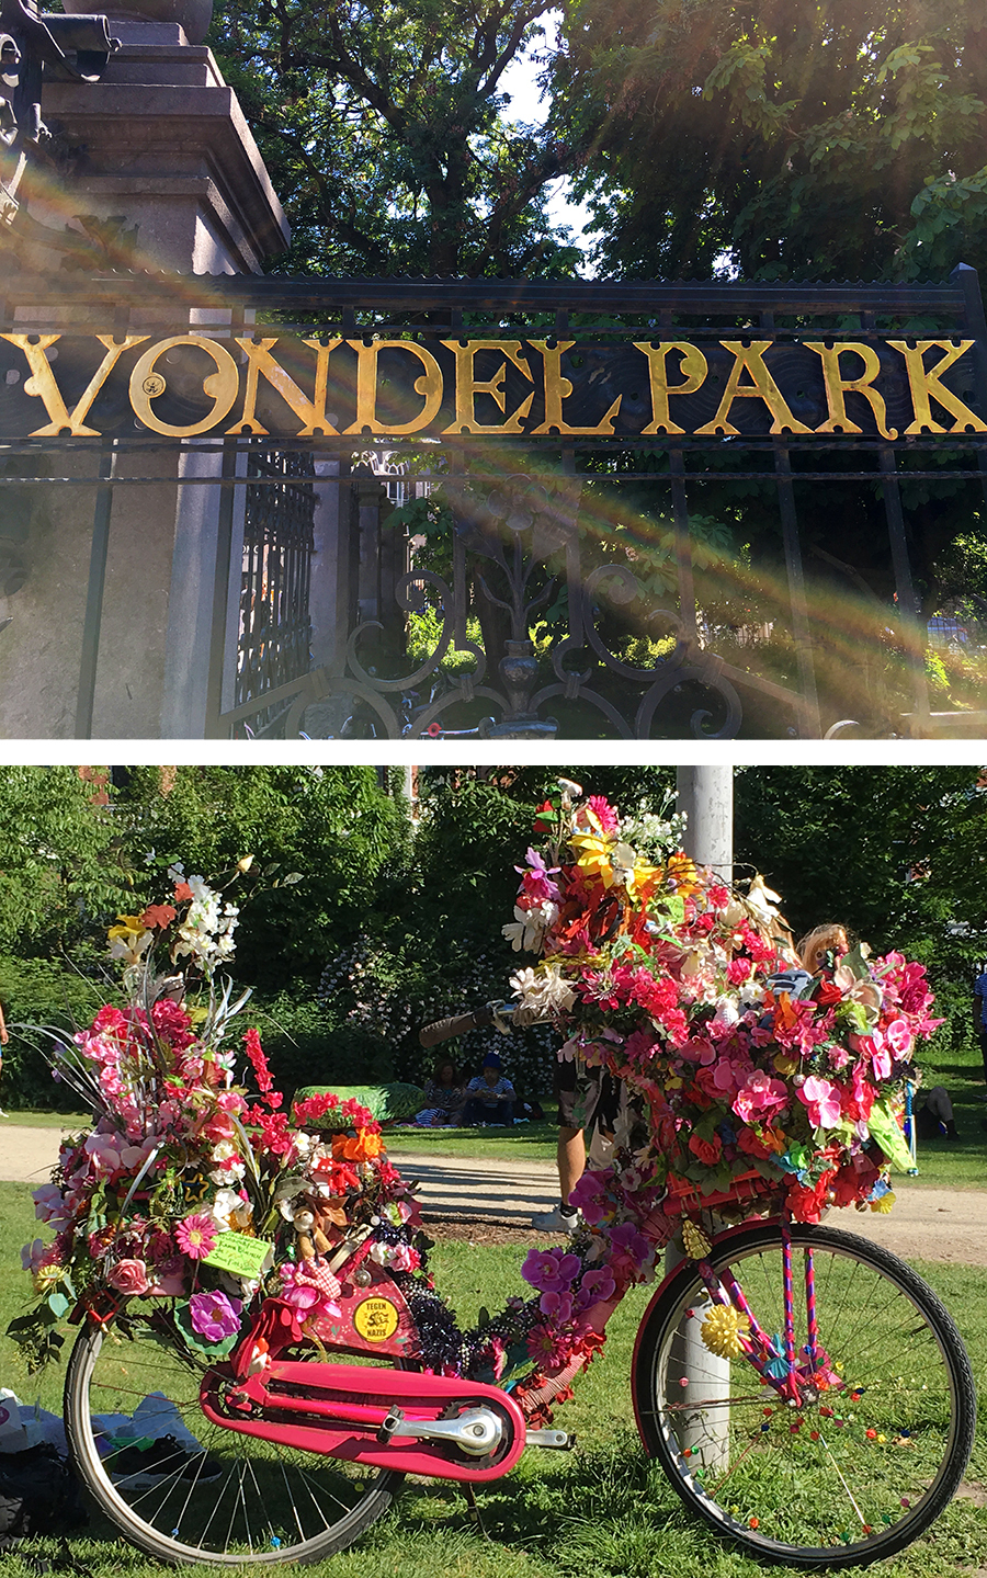
[[(497, 1387), (455, 1376), (275, 1360), (237, 1382), (232, 1368), (216, 1365), (202, 1381), (199, 1401), (207, 1419), (238, 1434), (398, 1474), (494, 1480), (524, 1450), (524, 1415), (513, 1398)], [(501, 1445), (485, 1458), (469, 1458), (453, 1442), (377, 1439), (392, 1406), (414, 1422), (439, 1419), (450, 1404), (456, 1404), (456, 1412), (478, 1404), (491, 1408), (504, 1423)]]

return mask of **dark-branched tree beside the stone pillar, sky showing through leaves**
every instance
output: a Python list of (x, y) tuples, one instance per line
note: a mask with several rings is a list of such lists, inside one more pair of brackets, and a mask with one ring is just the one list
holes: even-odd
[(276, 268), (572, 275), (578, 252), (545, 213), (545, 183), (570, 153), (501, 115), (504, 71), (548, 9), (224, 0), (210, 43), (294, 230)]

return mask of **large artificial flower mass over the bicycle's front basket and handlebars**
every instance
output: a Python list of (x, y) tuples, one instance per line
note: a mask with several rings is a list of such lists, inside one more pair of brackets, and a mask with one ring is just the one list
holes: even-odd
[(897, 1117), (914, 1046), (941, 1023), (924, 967), (854, 950), (810, 975), (760, 879), (742, 898), (654, 828), (635, 847), (635, 827), (576, 786), (539, 821), (548, 839), (518, 868), (504, 928), (540, 955), (513, 977), (516, 1013), (553, 1016), (559, 1056), (603, 1065), (630, 1098), (621, 1168), (586, 1174), (584, 1217), (613, 1215), (614, 1190), (651, 1191), (670, 1217), (692, 1201), (739, 1220), (744, 1193), (797, 1221), (888, 1210), (888, 1166), (910, 1166)]

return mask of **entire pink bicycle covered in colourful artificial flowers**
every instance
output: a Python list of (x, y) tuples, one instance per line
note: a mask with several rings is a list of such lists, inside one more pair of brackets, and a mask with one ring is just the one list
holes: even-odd
[(36, 1193), (55, 1239), (25, 1251), (38, 1297), (14, 1335), (41, 1362), (76, 1321), (69, 1444), (129, 1540), (314, 1561), (404, 1474), (475, 1485), (569, 1444), (553, 1408), (665, 1248), (630, 1381), (690, 1507), (802, 1567), (889, 1556), (938, 1516), (973, 1439), (963, 1344), (906, 1264), (821, 1223), (894, 1204), (902, 1090), (936, 1023), (924, 970), (859, 952), (793, 967), (763, 885), (737, 896), (666, 833), (575, 786), (539, 813), (507, 928), (537, 963), (499, 1023), (554, 1019), (562, 1056), (624, 1098), (581, 1231), (532, 1250), (532, 1296), (466, 1332), (373, 1114), (330, 1092), (287, 1114), (254, 1030), (253, 1090), (235, 1083), (232, 906), (177, 871), (172, 901), (120, 918), (129, 1005), (60, 1049), (96, 1117)]

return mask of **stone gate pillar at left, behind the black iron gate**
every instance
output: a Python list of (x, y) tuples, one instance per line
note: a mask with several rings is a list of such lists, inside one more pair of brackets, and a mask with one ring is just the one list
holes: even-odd
[[(188, 43), (183, 22), (202, 36), (208, 5), (133, 3), (156, 6), (159, 19), (111, 14), (109, 30), (122, 47), (101, 82), (44, 85), (44, 122), (74, 167), (58, 193), (41, 181), (21, 189), (30, 218), (60, 234), (66, 224), (92, 230), (95, 219), (104, 235), (117, 235), (111, 256), (122, 248), (123, 268), (259, 273), (265, 257), (284, 251), (289, 229), (232, 88), (210, 50)], [(11, 290), (16, 301), (16, 286)], [(144, 312), (131, 331), (167, 322), (171, 333), (182, 333), (185, 323), (185, 331), (229, 336), (229, 312), (186, 312), (183, 319), (180, 300), (180, 287), (163, 279), (161, 316)], [(14, 322), (32, 331), (71, 331), (65, 309), (52, 308), (51, 322), (39, 309), (25, 309)], [(25, 374), (11, 368), (5, 376)], [(96, 466), (96, 454), (77, 451), (57, 461), (65, 477), (92, 477)], [(104, 562), (95, 601), (96, 652), (93, 585), (98, 592), (99, 578), (90, 573), (96, 492), (33, 489), (27, 579), (0, 608), (11, 620), (0, 630), (0, 734), (71, 737), (76, 715), (92, 710), (93, 737), (201, 739), (210, 707), (215, 712), (229, 697), (229, 677), (223, 697), (216, 680), (224, 608), (235, 628), (237, 508), (223, 505), (218, 486), (191, 484), (193, 477), (218, 480), (221, 456), (120, 451), (114, 472), (112, 508), (98, 532)], [(161, 483), (128, 488), (126, 475), (159, 477)], [(92, 709), (77, 709), (85, 667)]]

